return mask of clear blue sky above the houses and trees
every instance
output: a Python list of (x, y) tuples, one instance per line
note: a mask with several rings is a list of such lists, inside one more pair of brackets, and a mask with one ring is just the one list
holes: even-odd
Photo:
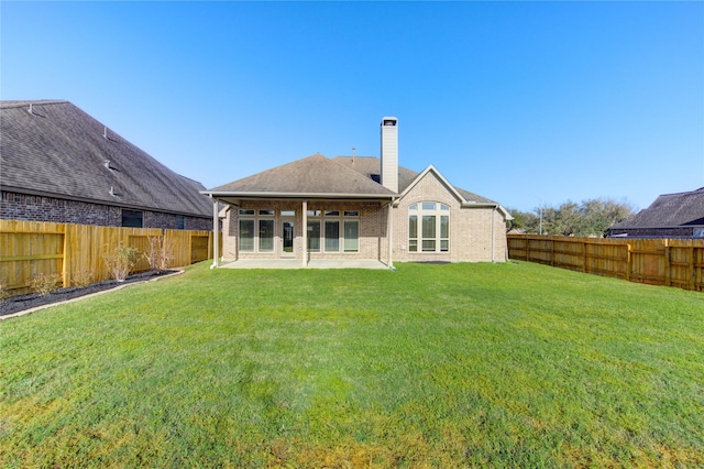
[[(704, 186), (704, 2), (0, 2), (0, 98), (215, 187), (320, 152), (532, 210)], [(1, 168), (0, 168), (1, 171)]]

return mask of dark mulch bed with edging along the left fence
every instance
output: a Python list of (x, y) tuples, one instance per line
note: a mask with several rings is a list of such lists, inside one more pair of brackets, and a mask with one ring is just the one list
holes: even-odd
[(70, 286), (67, 288), (58, 288), (48, 295), (40, 295), (37, 293), (28, 293), (26, 295), (12, 296), (0, 301), (0, 316), (19, 313), (24, 309), (35, 308), (37, 306), (46, 306), (54, 303), (65, 302), (67, 299), (78, 298), (80, 296), (90, 295), (92, 293), (103, 292), (106, 290), (116, 288), (135, 282), (144, 282), (154, 277), (169, 275), (178, 271), (150, 271), (141, 272), (128, 276), (124, 282), (117, 280), (107, 280), (105, 282), (91, 283), (87, 286)]

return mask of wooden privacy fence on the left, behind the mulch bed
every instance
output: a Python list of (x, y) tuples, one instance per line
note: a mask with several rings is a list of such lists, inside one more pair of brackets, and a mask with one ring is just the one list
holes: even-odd
[(170, 266), (212, 259), (210, 231), (0, 220), (0, 282), (14, 294), (40, 273), (61, 275), (64, 286), (86, 275), (90, 282), (109, 280), (105, 258), (120, 243), (140, 252), (133, 271), (146, 271), (150, 264), (142, 254), (148, 251), (150, 237), (161, 236), (170, 248)]

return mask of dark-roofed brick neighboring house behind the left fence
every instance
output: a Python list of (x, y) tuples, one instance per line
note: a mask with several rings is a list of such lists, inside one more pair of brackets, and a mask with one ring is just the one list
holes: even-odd
[(68, 101), (0, 101), (0, 219), (212, 229), (205, 187)]

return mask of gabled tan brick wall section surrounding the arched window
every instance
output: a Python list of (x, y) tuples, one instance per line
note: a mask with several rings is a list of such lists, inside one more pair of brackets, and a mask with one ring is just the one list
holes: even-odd
[[(450, 207), (448, 252), (408, 251), (408, 208), (421, 201)], [(393, 243), (393, 259), (399, 262), (503, 262), (507, 258), (506, 220), (493, 207), (462, 208), (460, 199), (442, 179), (428, 172), (394, 208)]]

